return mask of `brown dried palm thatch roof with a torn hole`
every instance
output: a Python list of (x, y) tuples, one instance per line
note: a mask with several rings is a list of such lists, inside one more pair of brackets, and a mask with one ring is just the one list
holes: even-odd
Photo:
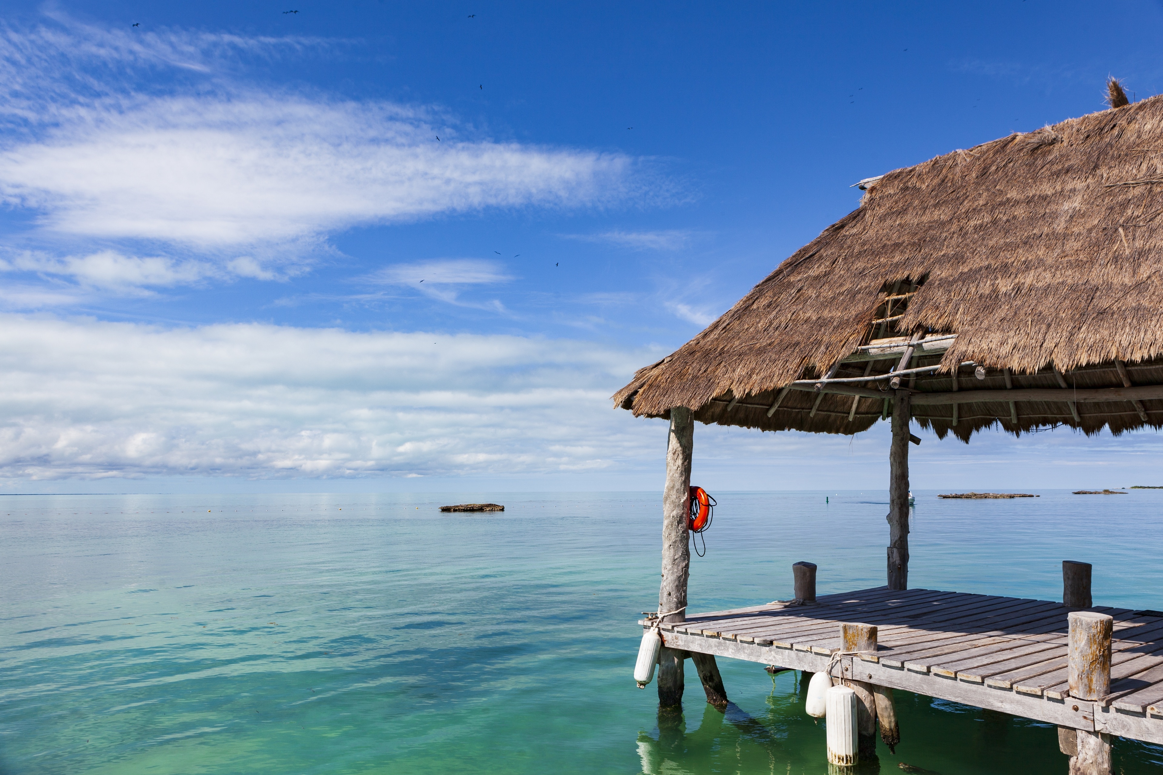
[(954, 406), (914, 399), (913, 416), (942, 437), (1163, 426), (1163, 397), (1005, 397), (1163, 385), (1163, 95), (885, 174), (856, 210), (613, 399), (640, 416), (682, 406), (705, 423), (855, 433), (884, 416), (889, 402), (875, 390), (887, 382), (857, 397), (786, 386), (833, 367), (833, 378), (884, 374), (897, 364), (841, 360), (871, 339), (922, 332), (956, 338), (914, 358), (940, 371), (902, 388), (997, 392)]

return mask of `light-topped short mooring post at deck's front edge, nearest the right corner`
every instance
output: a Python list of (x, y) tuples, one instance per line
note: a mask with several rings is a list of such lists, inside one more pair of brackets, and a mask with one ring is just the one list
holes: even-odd
[[(1069, 668), (1070, 696), (1098, 701), (1111, 694), (1111, 636), (1114, 617), (1096, 611), (1071, 611)], [(1058, 735), (1061, 748), (1068, 740)], [(1063, 745), (1065, 742), (1066, 745)], [(1070, 775), (1110, 775), (1111, 737), (1099, 731), (1076, 730), (1075, 753), (1070, 756)]]

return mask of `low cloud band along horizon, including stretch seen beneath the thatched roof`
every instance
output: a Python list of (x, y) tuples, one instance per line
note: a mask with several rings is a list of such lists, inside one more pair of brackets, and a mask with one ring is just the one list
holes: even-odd
[[(515, 336), (0, 315), (0, 485), (556, 473), (655, 489), (665, 424), (633, 419), (608, 396), (662, 354)], [(918, 432), (914, 489), (1066, 487), (1080, 465), (1096, 467), (1094, 487), (1157, 483), (1163, 449), (1160, 433), (982, 433), (966, 446)], [(699, 425), (697, 481), (834, 488), (840, 461), (846, 487), (883, 490), (887, 444), (886, 423), (857, 438)]]

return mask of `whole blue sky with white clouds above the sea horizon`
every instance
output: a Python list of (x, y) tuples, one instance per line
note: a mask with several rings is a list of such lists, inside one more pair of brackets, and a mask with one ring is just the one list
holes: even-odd
[[(5, 491), (654, 488), (608, 395), (852, 182), (1163, 88), (1160, 3), (6, 9)], [(885, 481), (883, 428), (695, 444), (719, 488)], [(927, 437), (914, 486), (1158, 452)]]

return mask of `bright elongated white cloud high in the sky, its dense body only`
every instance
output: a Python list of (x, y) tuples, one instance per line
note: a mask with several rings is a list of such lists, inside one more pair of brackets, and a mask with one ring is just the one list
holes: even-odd
[[(444, 132), (442, 142), (435, 136)], [(167, 98), (0, 153), (0, 196), (52, 231), (198, 249), (485, 207), (588, 206), (629, 158), (458, 139), (386, 103)]]

